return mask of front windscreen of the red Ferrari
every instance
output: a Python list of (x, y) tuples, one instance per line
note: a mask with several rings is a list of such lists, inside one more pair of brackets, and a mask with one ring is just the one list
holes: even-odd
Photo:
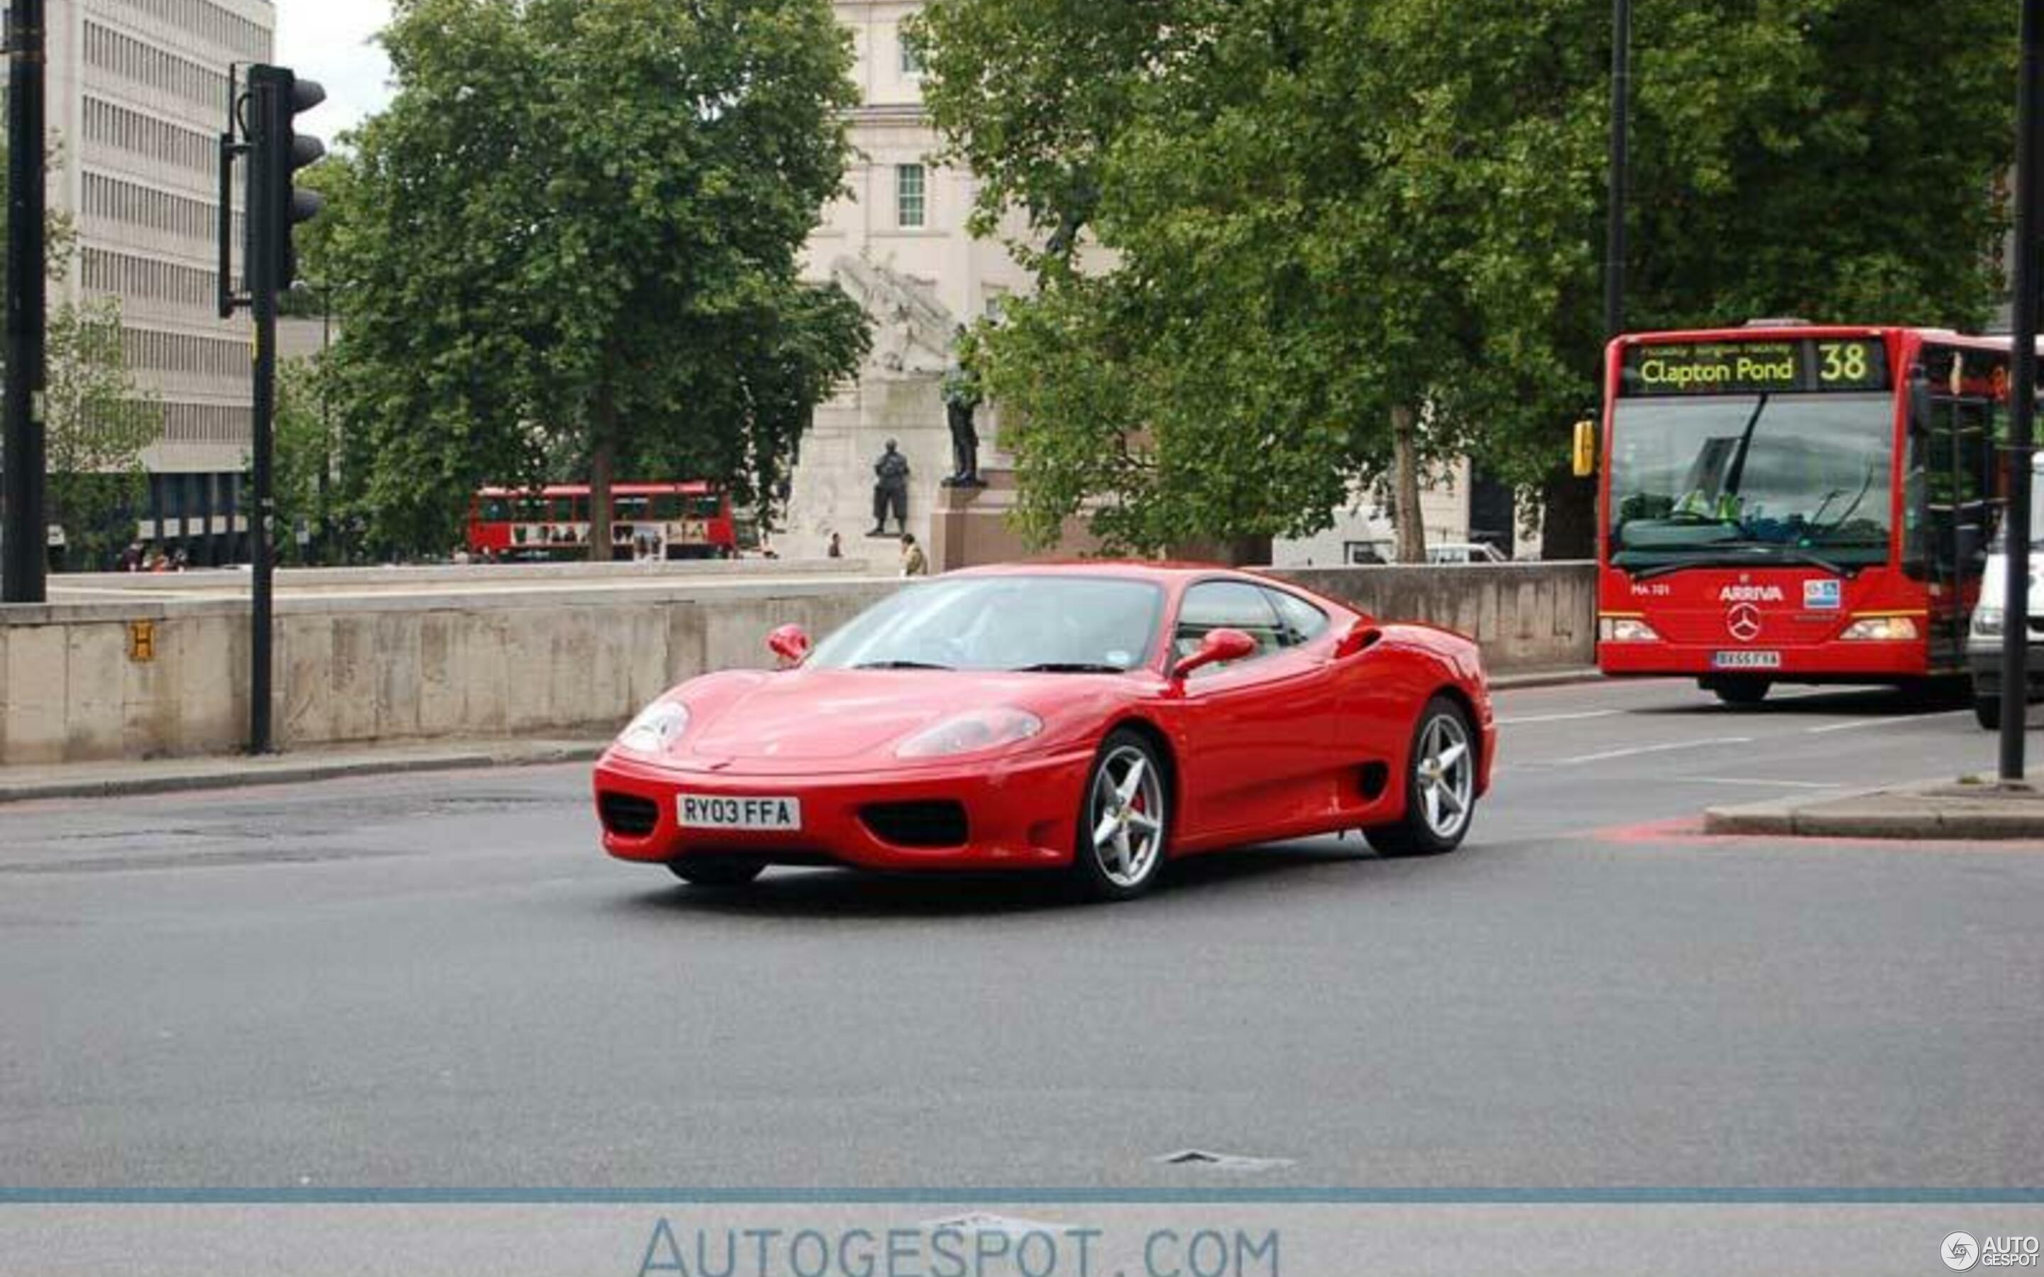
[(1132, 670), (1163, 590), (1118, 576), (957, 576), (912, 584), (816, 646), (811, 668)]

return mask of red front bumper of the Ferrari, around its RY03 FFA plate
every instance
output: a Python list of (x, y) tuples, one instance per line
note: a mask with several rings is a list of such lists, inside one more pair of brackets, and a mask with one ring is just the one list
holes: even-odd
[[(693, 772), (611, 750), (597, 762), (603, 850), (619, 860), (738, 856), (861, 868), (1069, 864), (1089, 752), (826, 776)], [(701, 830), (695, 799), (797, 799), (799, 830)], [(963, 815), (963, 819), (959, 819)]]

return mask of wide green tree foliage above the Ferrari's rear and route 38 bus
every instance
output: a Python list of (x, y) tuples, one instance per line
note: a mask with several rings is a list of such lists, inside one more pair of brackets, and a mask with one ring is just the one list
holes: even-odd
[[(1022, 517), (1304, 535), (1394, 421), (1549, 488), (1596, 403), (1607, 0), (946, 0), (924, 96), (1038, 270), (985, 345)], [(1635, 0), (1627, 325), (1979, 325), (2015, 12)]]

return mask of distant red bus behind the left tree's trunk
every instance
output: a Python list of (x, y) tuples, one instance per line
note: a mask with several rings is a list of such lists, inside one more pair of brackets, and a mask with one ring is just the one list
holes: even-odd
[[(482, 488), (468, 552), (501, 560), (587, 560), (589, 484)], [(732, 499), (707, 482), (611, 484), (611, 558), (734, 558)]]

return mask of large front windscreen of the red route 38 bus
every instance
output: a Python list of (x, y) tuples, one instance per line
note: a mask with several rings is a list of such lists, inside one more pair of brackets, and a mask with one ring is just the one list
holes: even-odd
[(1887, 562), (1893, 435), (1887, 394), (1621, 400), (1611, 562)]

